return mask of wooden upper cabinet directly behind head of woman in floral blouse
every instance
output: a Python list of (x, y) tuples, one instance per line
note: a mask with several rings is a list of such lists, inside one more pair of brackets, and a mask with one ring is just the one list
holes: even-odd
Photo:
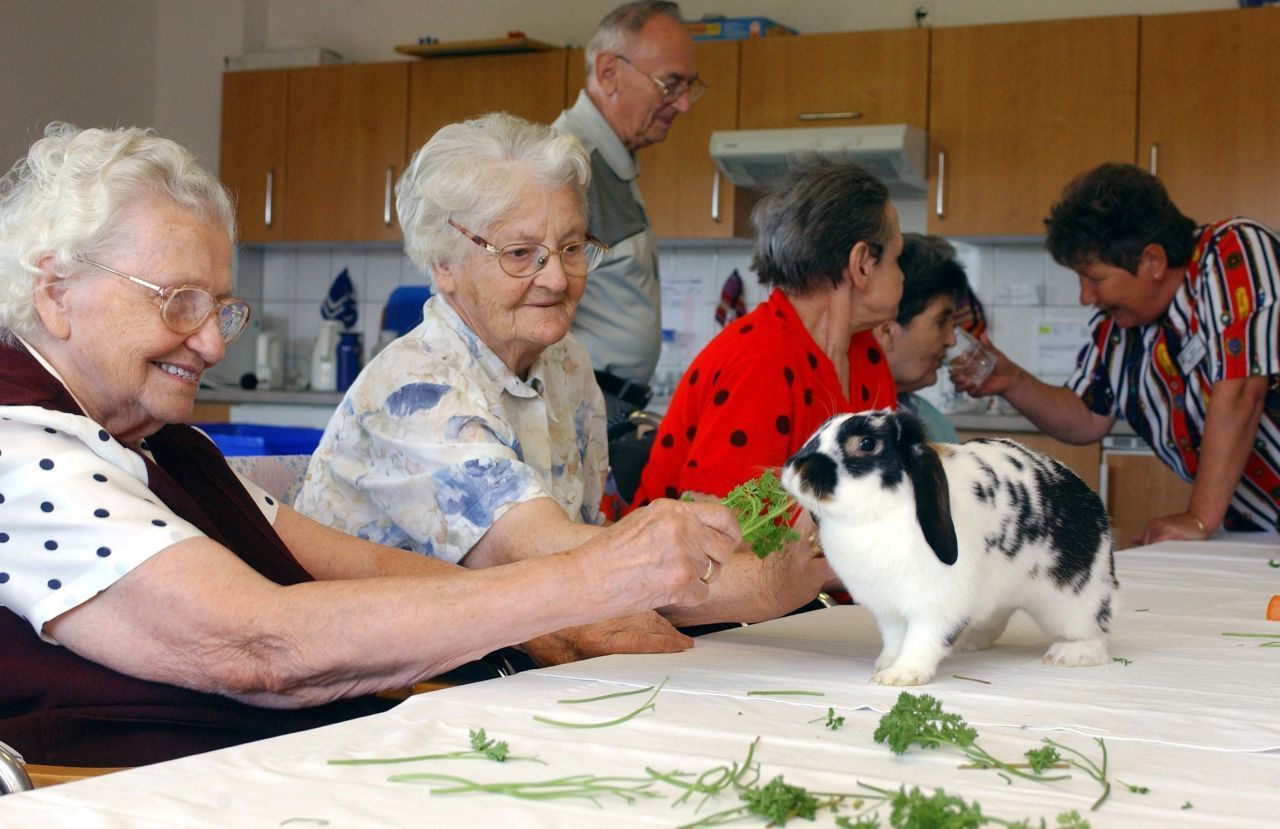
[(549, 124), (563, 109), (567, 50), (430, 58), (408, 69), (408, 157), (440, 127), (485, 113)]

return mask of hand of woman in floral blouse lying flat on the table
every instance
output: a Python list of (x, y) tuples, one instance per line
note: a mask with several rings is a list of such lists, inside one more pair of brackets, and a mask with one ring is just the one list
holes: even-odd
[(609, 654), (675, 654), (692, 647), (694, 640), (653, 610), (595, 624), (563, 628), (529, 640), (521, 649), (539, 667), (608, 656)]

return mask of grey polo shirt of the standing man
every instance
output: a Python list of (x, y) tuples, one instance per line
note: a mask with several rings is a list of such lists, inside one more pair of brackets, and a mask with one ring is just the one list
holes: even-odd
[(552, 124), (591, 154), (588, 229), (609, 246), (573, 315), (596, 371), (649, 383), (662, 349), (658, 243), (636, 186), (636, 162), (586, 92)]

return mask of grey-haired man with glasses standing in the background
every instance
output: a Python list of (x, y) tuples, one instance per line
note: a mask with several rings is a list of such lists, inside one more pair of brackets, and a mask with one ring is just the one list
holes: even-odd
[(573, 319), (604, 391), (609, 422), (649, 402), (662, 349), (658, 248), (636, 186), (635, 151), (667, 137), (707, 91), (680, 6), (660, 0), (611, 12), (586, 47), (586, 88), (553, 124), (591, 155), (591, 230), (609, 252)]

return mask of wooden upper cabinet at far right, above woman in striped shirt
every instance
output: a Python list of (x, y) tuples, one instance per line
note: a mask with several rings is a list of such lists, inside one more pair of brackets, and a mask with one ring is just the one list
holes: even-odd
[(1280, 226), (1280, 8), (1142, 18), (1139, 162), (1201, 223)]

